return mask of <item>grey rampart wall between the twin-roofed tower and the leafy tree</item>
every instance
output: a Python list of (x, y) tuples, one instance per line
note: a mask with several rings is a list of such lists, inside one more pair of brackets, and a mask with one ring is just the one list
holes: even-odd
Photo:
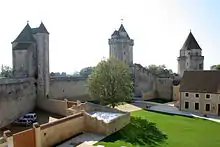
[(51, 77), (50, 98), (68, 100), (90, 100), (86, 87), (86, 78)]

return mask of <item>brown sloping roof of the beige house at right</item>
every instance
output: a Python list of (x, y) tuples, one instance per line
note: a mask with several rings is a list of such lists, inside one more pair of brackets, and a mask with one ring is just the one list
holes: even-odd
[(180, 92), (220, 93), (220, 71), (185, 71)]

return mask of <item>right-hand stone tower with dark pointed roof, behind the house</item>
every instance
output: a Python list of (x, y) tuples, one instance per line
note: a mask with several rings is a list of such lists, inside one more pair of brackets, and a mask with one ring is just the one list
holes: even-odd
[(182, 77), (184, 71), (203, 70), (204, 56), (202, 49), (190, 31), (178, 57), (178, 74)]

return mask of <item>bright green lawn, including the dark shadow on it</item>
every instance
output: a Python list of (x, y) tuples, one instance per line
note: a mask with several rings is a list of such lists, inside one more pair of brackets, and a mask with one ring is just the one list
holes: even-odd
[[(220, 123), (145, 110), (97, 145), (105, 147), (220, 147)], [(140, 118), (141, 117), (141, 118)]]

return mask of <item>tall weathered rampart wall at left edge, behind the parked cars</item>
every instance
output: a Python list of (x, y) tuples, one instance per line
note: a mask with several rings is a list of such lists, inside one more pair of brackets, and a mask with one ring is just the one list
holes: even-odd
[(0, 128), (31, 112), (35, 104), (34, 79), (0, 79)]

